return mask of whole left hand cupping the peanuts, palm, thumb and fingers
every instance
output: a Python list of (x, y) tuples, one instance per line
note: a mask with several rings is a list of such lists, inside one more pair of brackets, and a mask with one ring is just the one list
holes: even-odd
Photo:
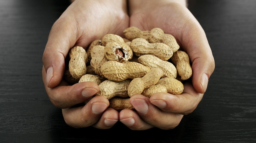
[(120, 0), (76, 0), (53, 24), (43, 54), (42, 77), (51, 102), (62, 108), (68, 125), (107, 129), (118, 121), (118, 112), (107, 109), (109, 101), (105, 97), (96, 96), (84, 106), (74, 106), (98, 92), (98, 85), (82, 82), (69, 86), (62, 78), (65, 58), (72, 47), (87, 48), (109, 33), (122, 36), (128, 26), (126, 1)]

